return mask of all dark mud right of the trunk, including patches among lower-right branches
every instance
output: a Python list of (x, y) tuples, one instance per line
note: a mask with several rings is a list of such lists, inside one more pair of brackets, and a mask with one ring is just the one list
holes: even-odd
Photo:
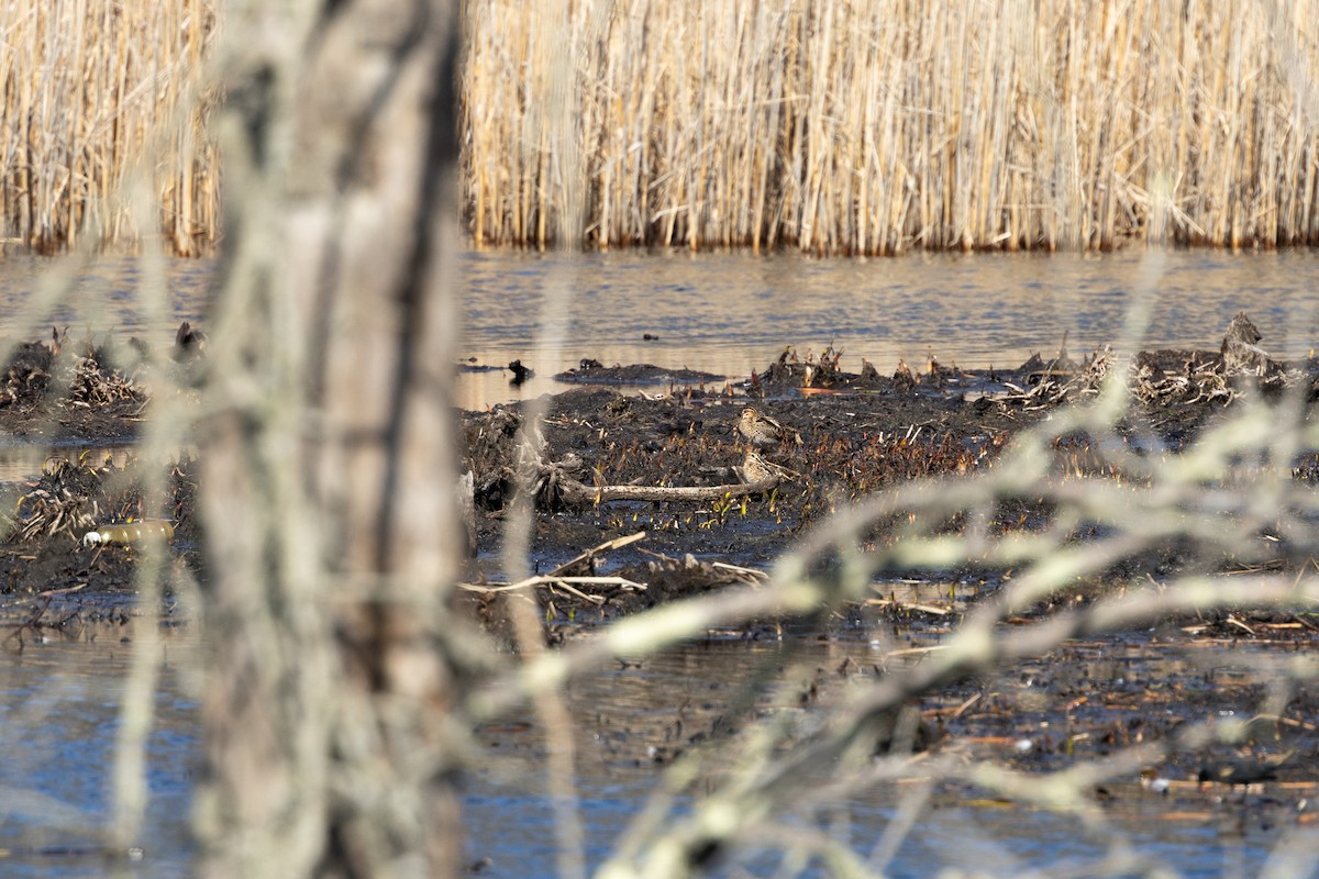
[[(563, 579), (562, 586), (542, 582), (532, 590), (551, 640), (571, 640), (590, 634), (592, 623), (674, 598), (754, 588), (776, 559), (836, 511), (913, 480), (930, 480), (938, 490), (943, 480), (984, 474), (1022, 431), (1060, 419), (1068, 407), (1093, 406), (1111, 377), (1130, 391), (1113, 428), (1121, 452), (1108, 444), (1113, 438), (1060, 432), (1047, 445), (1047, 468), (1055, 478), (1082, 485), (1134, 478), (1120, 470), (1120, 461), (1175, 461), (1242, 406), (1281, 412), (1299, 402), (1307, 412), (1314, 409), (1319, 364), (1277, 362), (1260, 343), (1242, 318), (1219, 351), (1154, 351), (1126, 360), (1109, 351), (1075, 357), (1060, 351), (1012, 370), (959, 370), (931, 361), (918, 369), (900, 365), (893, 374), (864, 361), (848, 372), (834, 352), (810, 357), (789, 348), (747, 381), (642, 394), (616, 391), (611, 383), (620, 377), (605, 368), (599, 386), (463, 414), (463, 463), (474, 474), (472, 585), (485, 582), (484, 572), (499, 576), (504, 528), (522, 490), (536, 498), (536, 573)], [(619, 372), (634, 380), (628, 368)], [(748, 409), (786, 431), (753, 445), (740, 430)], [(520, 434), (533, 414), (536, 430)], [(785, 474), (772, 485), (749, 486), (749, 448)], [(1302, 449), (1286, 465), (1290, 478), (1314, 482), (1312, 451)], [(584, 494), (576, 486), (586, 486)], [(630, 499), (624, 492), (720, 486), (727, 497), (690, 502)], [(1051, 514), (1047, 505), (1017, 498), (996, 510), (992, 531), (1046, 530)], [(900, 517), (881, 521), (865, 539), (876, 546), (901, 539), (902, 527)], [(958, 532), (966, 522), (947, 527)], [(591, 547), (641, 532), (642, 539), (580, 559)], [(1203, 550), (1173, 542), (1122, 557), (1022, 608), (1000, 627), (1035, 627), (1130, 584), (1157, 589), (1202, 571), (1299, 573), (1311, 563), (1307, 546), (1286, 540), (1264, 542), (1253, 556)], [(831, 565), (844, 564), (823, 559), (813, 573), (827, 579)], [(770, 640), (787, 644), (786, 652), (802, 639), (836, 644), (842, 662), (818, 667), (794, 691), (806, 713), (827, 710), (849, 688), (882, 685), (890, 671), (939, 650), (1012, 575), (971, 565), (884, 569), (863, 601), (822, 606), (805, 619), (762, 618), (710, 630), (706, 639)], [(584, 580), (592, 576), (620, 584)], [(470, 602), (497, 635), (500, 601), (476, 592)], [(1195, 825), (1231, 824), (1242, 836), (1266, 837), (1308, 822), (1306, 804), (1319, 795), (1310, 763), (1293, 759), (1312, 751), (1319, 702), (1303, 685), (1282, 693), (1269, 671), (1277, 658), (1312, 647), (1316, 633), (1308, 608), (1298, 604), (1166, 613), (1129, 631), (1072, 638), (1045, 655), (988, 666), (923, 692), (905, 709), (915, 723), (906, 745), (1024, 771), (1062, 770), (1079, 758), (1146, 745), (1153, 750), (1138, 778), (1132, 772), (1122, 783), (1088, 791), (1096, 805), (1115, 814), (1151, 810)], [(721, 704), (708, 714), (674, 710), (662, 729), (633, 730), (638, 763), (666, 763), (707, 737), (727, 734)], [(1223, 718), (1240, 729), (1216, 737), (1213, 726)], [(894, 729), (900, 720), (893, 718)], [(675, 739), (673, 729), (689, 731)], [(497, 735), (491, 742), (510, 743)], [(884, 747), (897, 746), (889, 741)], [(1285, 787), (1272, 785), (1279, 780)], [(940, 783), (936, 797), (1004, 803), (964, 780)]]

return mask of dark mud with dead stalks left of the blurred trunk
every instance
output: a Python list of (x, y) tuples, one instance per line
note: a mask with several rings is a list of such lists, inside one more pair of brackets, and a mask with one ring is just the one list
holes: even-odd
[[(203, 332), (179, 327), (171, 356), (161, 358), (162, 381), (186, 393), (199, 380), (204, 349)], [(148, 354), (136, 339), (71, 341), (67, 331), (15, 347), (0, 381), (0, 431), (63, 447), (131, 443), (152, 399), (152, 389), (138, 378)], [(121, 463), (103, 452), (53, 457), (30, 481), (0, 485), (0, 596), (18, 600), (7, 605), (24, 614), (18, 631), (59, 625), (51, 619), (61, 608), (113, 606), (106, 604), (108, 596), (132, 593), (141, 546), (88, 546), (83, 542), (88, 531), (128, 539), (124, 535), (138, 528), (106, 531), (104, 526), (158, 525), (156, 531), (173, 532), (175, 552), (173, 564), (162, 568), (165, 584), (185, 571), (191, 579), (199, 569), (195, 464), (152, 465), (165, 469), (148, 480), (145, 465), (132, 456), (116, 460)], [(165, 497), (149, 502), (148, 490), (164, 490)], [(161, 522), (144, 522), (152, 518)]]

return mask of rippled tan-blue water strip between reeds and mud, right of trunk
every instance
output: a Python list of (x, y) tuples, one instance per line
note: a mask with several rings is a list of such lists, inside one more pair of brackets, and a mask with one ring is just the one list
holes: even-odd
[[(962, 366), (1016, 366), (1033, 352), (1074, 354), (1112, 343), (1217, 349), (1246, 311), (1274, 356), (1315, 345), (1319, 294), (1311, 250), (1113, 254), (915, 254), (813, 260), (798, 254), (474, 253), (464, 262), (463, 357), (537, 370), (463, 374), (467, 409), (562, 390), (550, 376), (583, 357), (653, 362), (733, 378), (764, 369), (783, 345), (844, 351), (892, 373), (934, 353)], [(1126, 319), (1148, 307), (1148, 320)], [(646, 341), (646, 333), (657, 336)]]

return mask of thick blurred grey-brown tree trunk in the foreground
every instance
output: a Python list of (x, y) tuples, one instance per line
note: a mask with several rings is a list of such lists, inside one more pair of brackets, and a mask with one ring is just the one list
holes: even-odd
[(456, 4), (236, 4), (203, 875), (452, 875)]

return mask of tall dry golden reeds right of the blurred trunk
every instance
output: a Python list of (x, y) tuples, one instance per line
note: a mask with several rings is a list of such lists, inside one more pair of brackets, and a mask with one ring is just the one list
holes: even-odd
[(467, 18), (477, 241), (1319, 241), (1312, 0), (467, 0)]

